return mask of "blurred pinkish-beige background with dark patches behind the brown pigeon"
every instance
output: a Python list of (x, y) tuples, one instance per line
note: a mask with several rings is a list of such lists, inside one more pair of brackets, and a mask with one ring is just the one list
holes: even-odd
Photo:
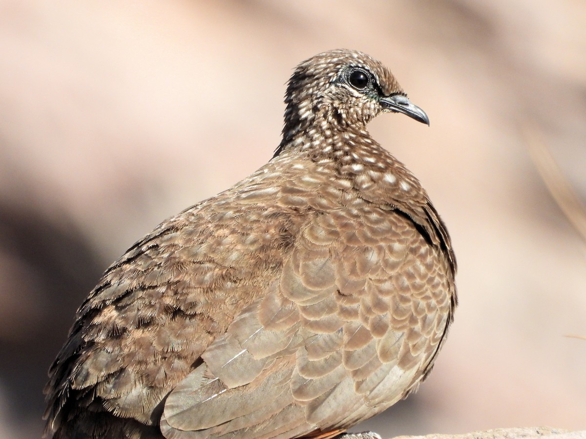
[(583, 0), (0, 0), (0, 437), (40, 436), (105, 267), (267, 162), (292, 69), (339, 47), (430, 116), (371, 131), (445, 219), (461, 303), (430, 379), (356, 430), (586, 429)]

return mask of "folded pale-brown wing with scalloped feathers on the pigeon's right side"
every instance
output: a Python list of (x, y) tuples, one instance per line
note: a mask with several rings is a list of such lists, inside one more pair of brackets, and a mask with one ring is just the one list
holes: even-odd
[(447, 272), (404, 215), (315, 212), (281, 275), (169, 394), (163, 434), (296, 437), (379, 413), (417, 384), (441, 341)]

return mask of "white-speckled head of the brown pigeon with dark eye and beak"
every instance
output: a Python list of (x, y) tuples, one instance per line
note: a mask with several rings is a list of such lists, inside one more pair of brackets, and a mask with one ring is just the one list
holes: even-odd
[(355, 50), (332, 50), (299, 64), (289, 80), (285, 103), (285, 135), (323, 124), (363, 128), (382, 112), (430, 123), (387, 67)]

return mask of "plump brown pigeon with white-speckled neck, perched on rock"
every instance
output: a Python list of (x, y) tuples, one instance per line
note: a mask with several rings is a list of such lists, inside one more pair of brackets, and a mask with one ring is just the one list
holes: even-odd
[(427, 114), (346, 49), (299, 64), (285, 106), (264, 166), (105, 270), (50, 366), (45, 437), (365, 437), (347, 430), (428, 376), (457, 304), (454, 251), (367, 131)]

